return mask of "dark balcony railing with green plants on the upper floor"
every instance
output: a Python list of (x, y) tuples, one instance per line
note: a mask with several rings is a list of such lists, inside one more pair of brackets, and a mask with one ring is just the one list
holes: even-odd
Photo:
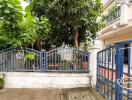
[(102, 16), (100, 20), (99, 28), (102, 29), (110, 24), (112, 24), (116, 19), (118, 19), (121, 15), (120, 7), (113, 7), (111, 10), (108, 11), (107, 15)]

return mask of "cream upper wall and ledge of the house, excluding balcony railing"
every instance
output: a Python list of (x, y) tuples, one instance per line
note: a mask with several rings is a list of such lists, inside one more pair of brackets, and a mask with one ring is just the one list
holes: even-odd
[(107, 0), (103, 3), (102, 15), (107, 13), (113, 6), (120, 6), (121, 15), (110, 25), (97, 32), (97, 40), (102, 42), (101, 49), (105, 48), (106, 45), (132, 40), (132, 3), (129, 0)]

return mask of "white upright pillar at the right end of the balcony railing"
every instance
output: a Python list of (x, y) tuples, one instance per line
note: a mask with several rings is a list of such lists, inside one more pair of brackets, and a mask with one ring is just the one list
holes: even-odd
[(127, 25), (128, 18), (128, 0), (123, 0), (121, 3), (120, 25)]

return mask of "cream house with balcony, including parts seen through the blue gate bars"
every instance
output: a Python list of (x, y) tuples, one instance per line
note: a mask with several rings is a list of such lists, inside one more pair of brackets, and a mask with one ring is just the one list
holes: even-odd
[[(99, 21), (101, 21), (103, 24), (100, 30), (97, 32), (99, 49), (103, 50), (115, 44), (132, 40), (132, 0), (102, 0), (102, 5), (103, 11)], [(132, 48), (132, 43), (126, 43), (120, 48), (124, 49), (123, 73), (127, 73), (128, 71), (128, 59), (130, 60), (131, 65), (131, 69), (129, 70), (132, 70), (132, 57), (130, 56), (129, 58), (129, 55), (132, 54), (132, 49), (130, 50), (130, 54), (128, 53), (128, 48), (130, 47)], [(115, 50), (113, 51), (112, 48), (110, 48), (106, 54), (102, 54), (103, 57), (100, 59), (104, 60), (104, 56), (106, 55), (106, 59), (109, 59), (110, 64), (112, 64), (112, 60), (114, 59), (113, 63), (116, 66), (117, 48), (114, 49)], [(112, 58), (112, 55), (115, 56)], [(108, 65), (106, 67), (108, 67)]]

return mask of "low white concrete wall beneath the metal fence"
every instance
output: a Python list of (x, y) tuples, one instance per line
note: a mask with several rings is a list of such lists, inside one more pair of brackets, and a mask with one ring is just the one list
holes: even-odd
[(5, 72), (5, 88), (88, 87), (89, 74)]

